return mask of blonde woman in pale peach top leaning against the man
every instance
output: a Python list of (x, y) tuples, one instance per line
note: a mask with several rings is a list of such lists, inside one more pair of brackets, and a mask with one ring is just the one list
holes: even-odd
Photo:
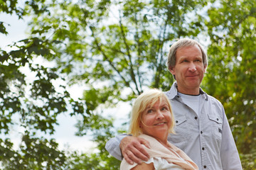
[(181, 149), (167, 141), (169, 133), (174, 133), (174, 125), (171, 104), (162, 91), (151, 89), (141, 94), (132, 108), (129, 132), (149, 141), (151, 148), (145, 149), (150, 159), (133, 165), (123, 159), (120, 169), (198, 169)]

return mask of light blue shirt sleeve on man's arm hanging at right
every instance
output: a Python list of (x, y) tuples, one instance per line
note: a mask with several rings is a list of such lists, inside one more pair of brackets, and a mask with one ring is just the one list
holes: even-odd
[(223, 170), (242, 170), (242, 164), (238, 154), (238, 149), (235, 145), (235, 140), (230, 130), (230, 125), (228, 124), (228, 119), (227, 116), (225, 115), (224, 108), (220, 157)]

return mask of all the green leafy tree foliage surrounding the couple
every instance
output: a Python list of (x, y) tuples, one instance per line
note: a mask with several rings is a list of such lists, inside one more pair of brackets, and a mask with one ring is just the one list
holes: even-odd
[[(118, 169), (105, 150), (117, 130), (104, 109), (131, 103), (148, 87), (169, 90), (174, 79), (166, 56), (183, 37), (210, 40), (203, 89), (223, 103), (244, 169), (255, 169), (255, 0), (8, 2), (0, 1), (2, 13), (33, 20), (29, 38), (11, 45), (16, 50), (0, 51), (0, 133), (23, 128), (18, 149), (8, 137), (0, 139), (4, 169)], [(0, 33), (8, 35), (6, 26), (0, 21)], [(56, 67), (34, 64), (36, 57)], [(54, 85), (62, 80), (85, 84), (82, 102)], [(77, 135), (92, 136), (94, 152), (63, 152), (54, 139), (41, 137), (54, 134), (58, 115), (67, 112), (82, 116)]]

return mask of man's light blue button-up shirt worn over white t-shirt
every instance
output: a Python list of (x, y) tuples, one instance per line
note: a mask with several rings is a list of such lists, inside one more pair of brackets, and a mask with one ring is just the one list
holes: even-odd
[[(171, 101), (176, 120), (176, 135), (170, 134), (168, 141), (188, 154), (199, 169), (241, 170), (242, 165), (235, 146), (223, 105), (200, 89), (199, 116), (183, 103), (178, 95), (176, 82), (166, 91)], [(106, 149), (113, 157), (122, 159), (119, 135), (107, 142)]]

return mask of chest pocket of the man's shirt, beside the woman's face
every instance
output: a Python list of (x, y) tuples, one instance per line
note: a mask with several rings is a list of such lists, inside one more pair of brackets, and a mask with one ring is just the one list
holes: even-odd
[[(169, 141), (176, 144), (176, 146), (183, 145), (191, 137), (188, 120), (185, 115), (175, 117), (176, 126), (174, 128), (176, 134), (169, 135)], [(181, 146), (180, 146), (181, 147)]]

